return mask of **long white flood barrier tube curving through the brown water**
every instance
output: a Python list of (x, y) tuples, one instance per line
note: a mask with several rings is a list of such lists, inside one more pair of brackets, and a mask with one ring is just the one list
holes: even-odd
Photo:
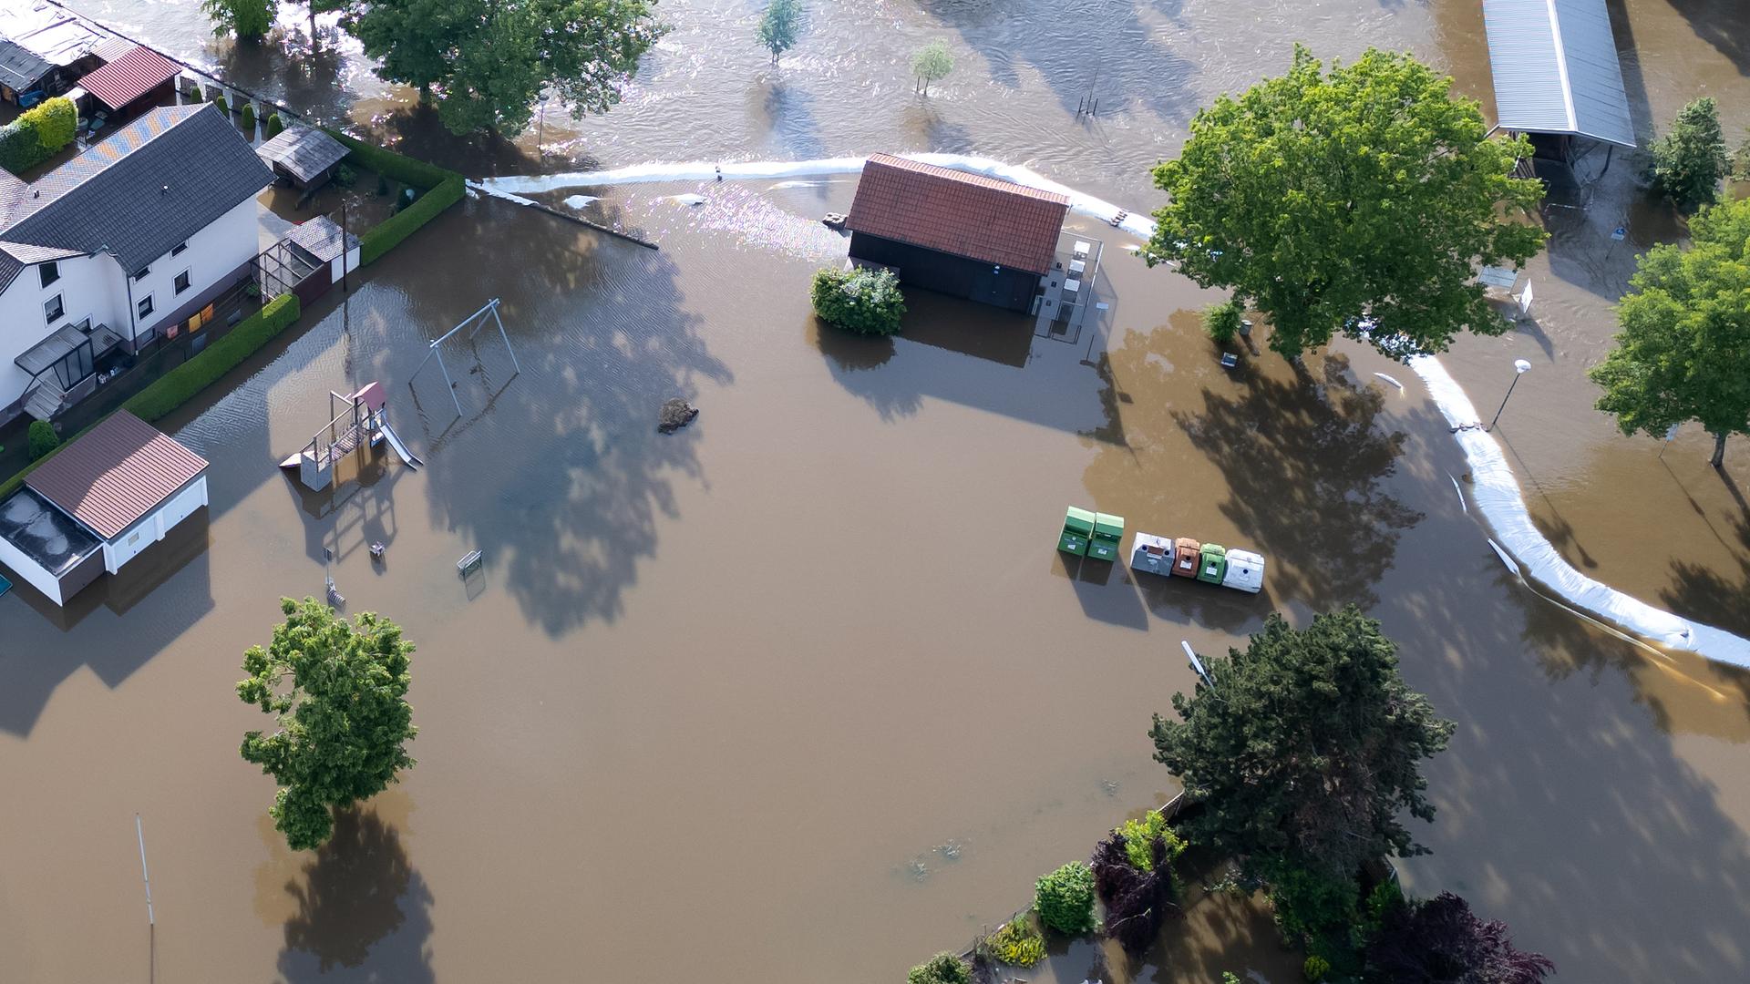
[[(922, 161), (926, 165), (938, 165), (968, 173), (1006, 179), (1029, 187), (1055, 191), (1068, 196), (1071, 210), (1080, 215), (1088, 215), (1102, 222), (1116, 221), (1116, 228), (1143, 240), (1155, 235), (1155, 224), (1146, 215), (1129, 214), (1110, 201), (1057, 184), (1055, 180), (1050, 180), (1026, 166), (966, 154), (900, 156)], [(495, 198), (528, 203), (528, 200), (522, 198), (518, 193), (534, 194), (579, 186), (714, 180), (719, 175), (724, 180), (740, 180), (859, 173), (863, 170), (863, 161), (864, 158), (821, 158), (814, 161), (735, 161), (721, 165), (710, 161), (691, 161), (672, 165), (635, 165), (630, 168), (614, 168), (606, 172), (490, 177), (481, 179), (472, 187), (478, 187)], [(1507, 457), (1502, 453), (1500, 445), (1494, 443), (1494, 438), (1486, 434), (1477, 425), (1477, 411), (1472, 406), (1470, 397), (1465, 396), (1465, 390), (1446, 371), (1446, 366), (1432, 355), (1414, 355), (1409, 359), (1409, 366), (1418, 376), (1421, 376), (1423, 383), (1426, 383), (1428, 396), (1433, 399), (1435, 406), (1440, 408), (1440, 413), (1447, 418), (1447, 422), (1454, 427), (1466, 425), (1463, 431), (1454, 432), (1454, 439), (1465, 450), (1465, 459), (1470, 462), (1474, 478), (1472, 501), (1475, 501), (1477, 510), (1494, 529), (1498, 543), (1491, 539), (1489, 545), (1503, 555), (1503, 560), (1516, 560), (1522, 576), (1547, 585), (1563, 601), (1573, 604), (1580, 611), (1596, 615), (1608, 623), (1619, 625), (1661, 646), (1699, 653), (1710, 660), (1724, 664), (1750, 667), (1750, 639), (1734, 636), (1724, 629), (1678, 618), (1670, 611), (1657, 609), (1575, 571), (1573, 566), (1561, 557), (1556, 546), (1544, 539), (1536, 524), (1531, 522), (1531, 513), (1526, 510), (1524, 497), (1519, 492), (1519, 480), (1514, 478), (1512, 467), (1507, 464)], [(1390, 382), (1396, 383), (1396, 380)], [(1402, 383), (1396, 385), (1402, 389)], [(1454, 481), (1454, 487), (1458, 483)], [(1460, 492), (1460, 501), (1463, 501), (1463, 492)]]

